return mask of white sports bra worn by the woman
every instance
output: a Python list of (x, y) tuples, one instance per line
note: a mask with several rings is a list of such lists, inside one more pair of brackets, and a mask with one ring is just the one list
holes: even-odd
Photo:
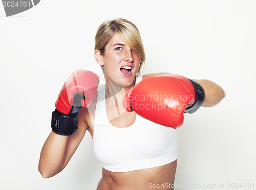
[[(136, 84), (142, 75), (136, 76)], [(136, 115), (125, 128), (113, 126), (107, 115), (105, 89), (98, 91), (94, 120), (94, 152), (111, 172), (129, 172), (163, 166), (177, 159), (177, 130)], [(101, 101), (99, 101), (101, 100)]]

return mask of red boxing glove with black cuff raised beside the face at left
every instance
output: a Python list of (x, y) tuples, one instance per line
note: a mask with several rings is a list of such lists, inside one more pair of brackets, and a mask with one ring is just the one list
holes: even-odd
[(92, 71), (80, 69), (73, 72), (59, 93), (52, 113), (52, 130), (61, 135), (71, 135), (77, 130), (78, 113), (87, 107), (97, 93), (99, 77)]

